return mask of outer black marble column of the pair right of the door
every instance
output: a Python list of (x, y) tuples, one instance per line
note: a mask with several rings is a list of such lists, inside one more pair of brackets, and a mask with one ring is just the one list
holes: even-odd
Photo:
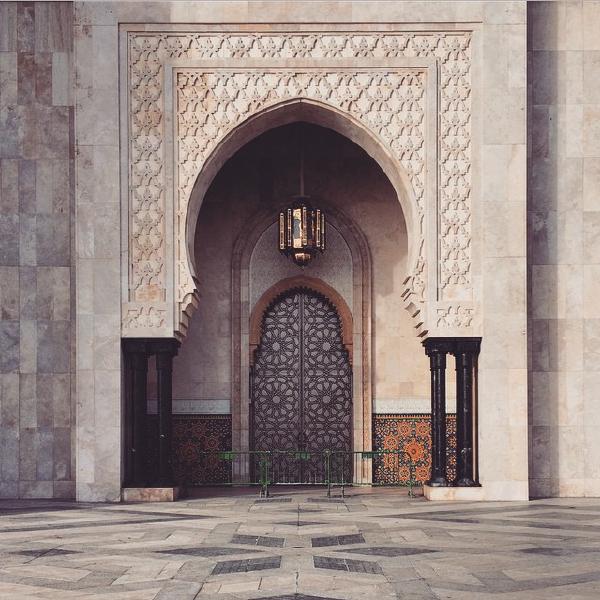
[(456, 359), (456, 485), (475, 486), (475, 398), (477, 356), (481, 338), (458, 338)]

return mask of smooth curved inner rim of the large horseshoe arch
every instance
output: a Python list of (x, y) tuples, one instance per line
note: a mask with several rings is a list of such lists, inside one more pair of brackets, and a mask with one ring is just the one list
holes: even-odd
[[(247, 116), (215, 144), (194, 175), (194, 184), (186, 199), (185, 235), (181, 235), (179, 248), (180, 275), (178, 282), (180, 303), (180, 327), (185, 331), (187, 321), (196, 302), (196, 266), (194, 256), (195, 227), (200, 208), (214, 177), (240, 148), (262, 133), (303, 121), (332, 129), (360, 146), (385, 173), (396, 191), (406, 222), (408, 237), (407, 277), (405, 281), (405, 303), (417, 304), (425, 297), (425, 210), (423, 201), (422, 174), (412, 180), (402, 164), (383, 140), (365, 123), (352, 114), (335, 106), (310, 98), (294, 98), (268, 106)], [(424, 165), (419, 169), (424, 169)], [(413, 184), (420, 185), (415, 190)], [(181, 186), (180, 186), (181, 187)], [(418, 197), (417, 197), (418, 196)], [(181, 210), (181, 207), (180, 207)], [(185, 242), (182, 247), (181, 241)], [(188, 273), (184, 271), (188, 270)], [(414, 314), (414, 305), (411, 306)], [(419, 312), (418, 310), (416, 311)]]

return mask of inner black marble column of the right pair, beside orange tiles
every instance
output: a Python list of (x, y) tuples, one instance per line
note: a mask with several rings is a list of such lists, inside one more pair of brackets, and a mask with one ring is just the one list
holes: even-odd
[(446, 338), (423, 342), (431, 371), (431, 479), (428, 485), (446, 486)]

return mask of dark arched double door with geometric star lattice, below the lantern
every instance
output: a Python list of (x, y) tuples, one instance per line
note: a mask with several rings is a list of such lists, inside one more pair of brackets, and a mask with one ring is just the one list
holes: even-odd
[[(333, 305), (291, 290), (266, 311), (252, 377), (255, 450), (352, 450), (352, 369)], [(290, 482), (324, 476), (321, 455), (275, 465)]]

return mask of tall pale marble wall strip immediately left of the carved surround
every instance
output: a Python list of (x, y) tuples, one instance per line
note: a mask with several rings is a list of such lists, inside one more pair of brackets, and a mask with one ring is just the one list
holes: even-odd
[(59, 97), (77, 113), (75, 493), (105, 501), (120, 498), (121, 484), (119, 48), (116, 22), (106, 21), (121, 3), (90, 13), (91, 4), (74, 6), (75, 59), (61, 54), (53, 67), (61, 85), (73, 82)]

